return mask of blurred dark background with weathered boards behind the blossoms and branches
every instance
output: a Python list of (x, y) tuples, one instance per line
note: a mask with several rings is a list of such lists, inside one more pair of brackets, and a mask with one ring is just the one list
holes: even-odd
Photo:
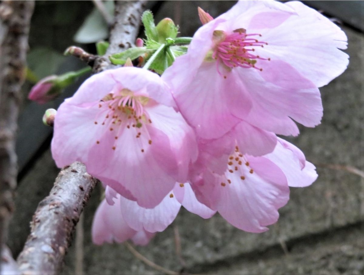
[[(347, 169), (364, 170), (364, 2), (303, 2), (333, 18), (349, 41), (348, 69), (320, 89), (322, 124), (314, 129), (300, 127), (300, 136), (288, 138), (316, 164), (317, 181), (304, 189), (292, 188), (279, 221), (262, 234), (242, 232), (218, 214), (203, 220), (181, 209), (165, 232), (148, 246), (137, 247), (152, 262), (182, 274), (364, 274), (364, 179)], [(181, 36), (192, 36), (201, 26), (198, 6), (216, 17), (234, 3), (149, 1), (147, 8), (156, 22), (170, 17), (179, 25)], [(112, 1), (106, 6), (112, 11)], [(80, 69), (84, 63), (64, 57), (63, 51), (79, 45), (95, 53), (94, 42), (107, 37), (107, 25), (92, 1), (36, 1), (29, 69), (35, 78)], [(52, 129), (42, 124), (42, 116), (71, 96), (83, 80), (45, 105), (29, 102), (26, 97), (32, 84), (24, 86), (17, 139), (19, 185), (8, 241), (14, 257), (23, 248), (37, 204), (48, 195), (59, 172), (49, 149)], [(63, 273), (161, 274), (123, 244), (92, 244), (91, 223), (100, 197), (98, 186), (78, 225)]]

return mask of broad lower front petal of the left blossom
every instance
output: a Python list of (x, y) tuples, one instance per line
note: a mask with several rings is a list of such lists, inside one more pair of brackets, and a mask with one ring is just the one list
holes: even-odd
[(88, 173), (102, 178), (106, 185), (118, 192), (122, 186), (139, 205), (153, 208), (173, 189), (177, 163), (164, 133), (150, 128), (150, 136), (143, 133), (137, 139), (138, 131), (125, 127), (117, 140), (107, 132), (99, 144), (89, 148), (86, 166)]

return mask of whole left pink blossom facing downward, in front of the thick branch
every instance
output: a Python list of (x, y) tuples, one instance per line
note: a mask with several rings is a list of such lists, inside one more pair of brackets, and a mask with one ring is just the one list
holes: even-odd
[(193, 129), (173, 108), (166, 84), (135, 67), (88, 78), (59, 107), (52, 155), (59, 167), (88, 173), (139, 205), (153, 208), (187, 180), (197, 158)]

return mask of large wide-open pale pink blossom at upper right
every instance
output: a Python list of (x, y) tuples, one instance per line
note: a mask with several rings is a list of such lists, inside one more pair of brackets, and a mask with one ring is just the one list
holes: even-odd
[(317, 87), (348, 65), (339, 27), (296, 1), (240, 1), (208, 21), (162, 75), (198, 136), (221, 137), (242, 120), (283, 135), (299, 133), (293, 120), (320, 123)]

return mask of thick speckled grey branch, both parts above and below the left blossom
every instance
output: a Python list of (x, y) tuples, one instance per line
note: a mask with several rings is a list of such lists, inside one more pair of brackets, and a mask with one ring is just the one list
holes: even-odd
[[(117, 1), (115, 23), (111, 27), (110, 47), (104, 57), (95, 60), (94, 72), (116, 67), (108, 54), (131, 47), (138, 34), (145, 1)], [(126, 46), (120, 46), (121, 44)], [(70, 246), (83, 207), (98, 182), (86, 173), (84, 164), (76, 162), (63, 169), (51, 193), (39, 206), (31, 222), (31, 234), (17, 262), (21, 274), (57, 274)]]

